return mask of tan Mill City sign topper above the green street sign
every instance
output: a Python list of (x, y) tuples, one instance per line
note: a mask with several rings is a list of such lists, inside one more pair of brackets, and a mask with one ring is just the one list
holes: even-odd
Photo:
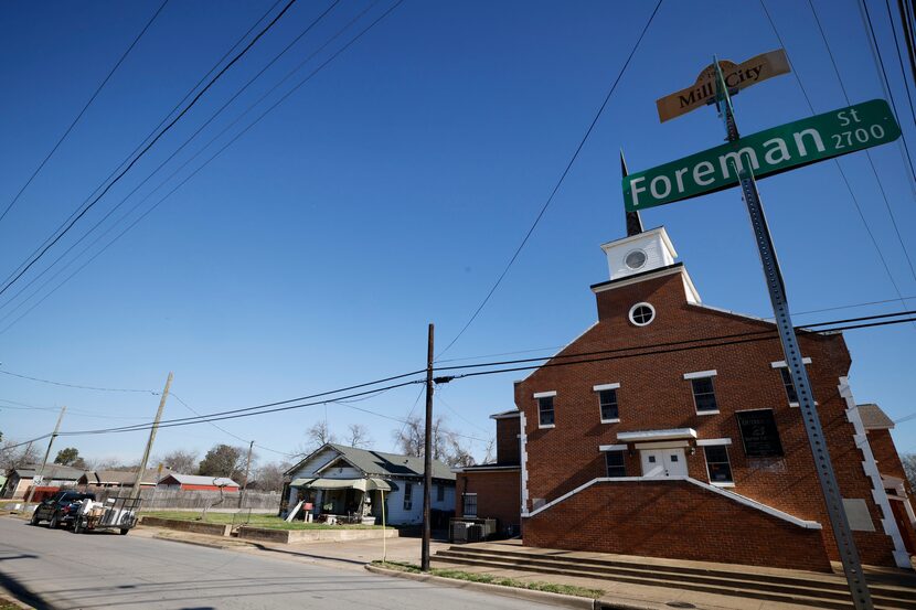
[[(786, 57), (786, 52), (781, 49), (761, 53), (741, 64), (723, 60), (718, 62), (718, 66), (722, 68), (725, 85), (729, 89), (743, 89), (767, 78), (787, 74), (790, 71), (789, 60)], [(692, 86), (656, 100), (656, 107), (659, 110), (659, 120), (664, 122), (674, 117), (680, 117), (681, 115), (685, 115), (691, 110), (710, 104), (714, 98), (715, 66), (710, 65), (700, 73), (700, 76), (696, 77), (696, 82)]]

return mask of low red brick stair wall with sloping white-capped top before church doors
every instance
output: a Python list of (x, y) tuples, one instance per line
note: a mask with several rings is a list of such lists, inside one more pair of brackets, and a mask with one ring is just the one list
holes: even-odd
[(524, 544), (830, 571), (819, 531), (686, 481), (596, 483), (526, 518)]

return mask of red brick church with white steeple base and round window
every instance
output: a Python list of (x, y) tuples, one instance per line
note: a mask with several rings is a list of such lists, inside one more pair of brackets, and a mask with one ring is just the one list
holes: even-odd
[[(603, 249), (598, 321), (515, 384), (524, 544), (829, 570), (839, 556), (775, 325), (702, 303), (664, 228)], [(896, 452), (863, 425), (843, 336), (799, 342), (862, 560), (909, 567), (885, 491), (905, 477), (880, 470)]]

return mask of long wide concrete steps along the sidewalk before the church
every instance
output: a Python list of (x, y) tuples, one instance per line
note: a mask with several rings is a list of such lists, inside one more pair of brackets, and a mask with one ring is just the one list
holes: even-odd
[[(837, 610), (852, 606), (845, 579), (841, 576), (755, 570), (738, 566), (735, 569), (722, 569), (699, 563), (669, 564), (658, 559), (639, 559), (599, 554), (556, 554), (546, 549), (528, 550), (518, 545), (500, 547), (486, 544), (451, 546), (434, 557), (436, 561), (455, 566), (606, 579)], [(870, 588), (875, 608), (916, 610), (916, 578), (882, 575), (870, 580), (874, 580), (870, 581)]]

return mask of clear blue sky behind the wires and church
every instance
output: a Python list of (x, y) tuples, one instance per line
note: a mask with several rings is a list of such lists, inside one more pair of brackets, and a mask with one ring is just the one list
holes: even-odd
[[(294, 4), (47, 261), (121, 201), (328, 4)], [(814, 4), (852, 103), (884, 97), (856, 2)], [(0, 98), (0, 204), (15, 195), (158, 6), (17, 2), (2, 8), (0, 76), (7, 95)], [(0, 223), (0, 275), (6, 277), (66, 218), (269, 6), (171, 0)], [(147, 195), (171, 168), (369, 6), (340, 2), (138, 195)], [(388, 6), (384, 0), (372, 6), (365, 19)], [(173, 390), (202, 413), (422, 368), (427, 323), (435, 322), (437, 343), (444, 346), (487, 293), (556, 183), (652, 7), (406, 0), (2, 332), (2, 368), (77, 385), (157, 390), (173, 371)], [(845, 106), (807, 4), (767, 0), (767, 7), (816, 111)], [(883, 4), (870, 7), (903, 111), (902, 127), (916, 143), (887, 15)], [(654, 100), (689, 86), (713, 54), (741, 62), (778, 46), (758, 2), (667, 0), (525, 249), (443, 358), (535, 349), (546, 353), (592, 324), (588, 286), (607, 279), (598, 245), (626, 233), (618, 150), (625, 150), (630, 170), (639, 171), (721, 143), (722, 127), (711, 109), (660, 125)], [(746, 133), (810, 114), (791, 75), (747, 89), (735, 105)], [(207, 151), (177, 180), (209, 158)], [(901, 150), (890, 145), (873, 149), (872, 156), (904, 244), (916, 249), (916, 193)], [(916, 296), (916, 278), (864, 153), (840, 163), (902, 293)], [(895, 298), (833, 162), (766, 179), (760, 191), (793, 311)], [(643, 222), (665, 225), (704, 302), (770, 314), (736, 190), (647, 211)], [(0, 331), (44, 295), (3, 320), (19, 304), (4, 303), (20, 287), (0, 297)], [(797, 321), (899, 309), (897, 301), (799, 315)], [(846, 334), (859, 402), (876, 402), (894, 418), (914, 411), (905, 381), (914, 373), (915, 339), (912, 325)], [(492, 432), (487, 416), (512, 407), (513, 378), (494, 375), (444, 386), (436, 408), (454, 428), (487, 438)], [(403, 418), (418, 389), (393, 390), (358, 406)], [(76, 411), (63, 426), (74, 430), (141, 421), (158, 403), (151, 395), (9, 376), (0, 378), (0, 399), (46, 407), (0, 403), (0, 430), (20, 439), (50, 431), (53, 409), (61, 405)], [(420, 408), (422, 400), (417, 413)], [(169, 402), (167, 418), (189, 415)], [(286, 451), (324, 416), (323, 407), (313, 407), (222, 426)], [(340, 405), (328, 406), (327, 417), (338, 432), (361, 421), (377, 448), (392, 447), (391, 420)], [(131, 460), (139, 458), (145, 437), (81, 437), (60, 447)], [(901, 424), (895, 437), (898, 448), (916, 451), (916, 420)], [(155, 452), (193, 448), (202, 453), (215, 442), (239, 443), (203, 424), (162, 430)]]

